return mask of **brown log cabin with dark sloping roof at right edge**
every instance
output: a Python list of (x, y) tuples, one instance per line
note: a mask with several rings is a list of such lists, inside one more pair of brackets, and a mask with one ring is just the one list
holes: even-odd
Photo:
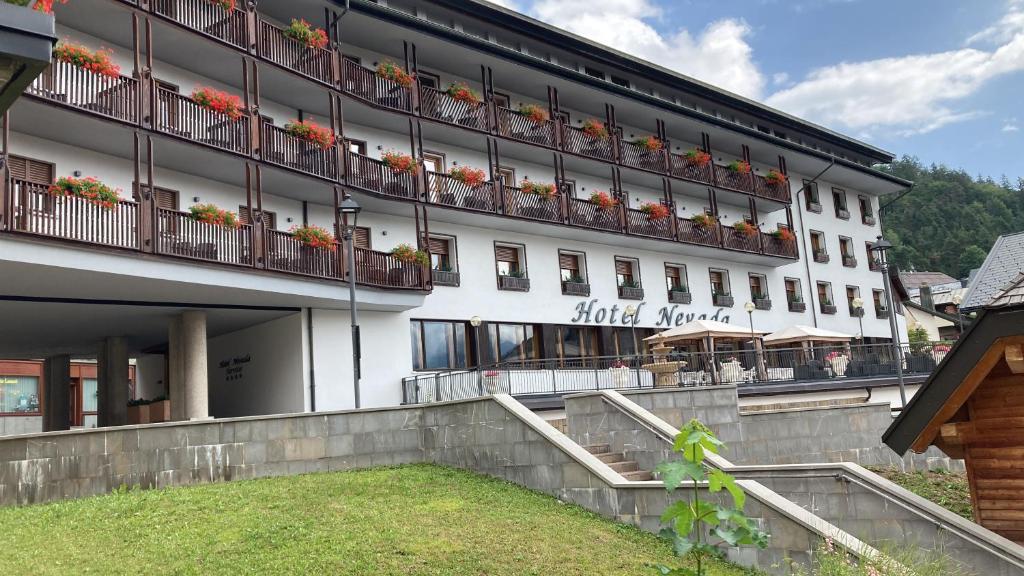
[(967, 464), (975, 522), (1024, 543), (1024, 274), (981, 312), (883, 440)]

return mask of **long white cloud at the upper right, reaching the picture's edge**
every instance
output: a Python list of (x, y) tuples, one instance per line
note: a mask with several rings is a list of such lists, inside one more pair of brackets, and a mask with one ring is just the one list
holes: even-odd
[[(1021, 0), (1011, 2), (999, 25), (988, 29), (992, 32), (979, 33), (987, 41), (1000, 40), (990, 50), (965, 47), (841, 63), (812, 71), (796, 85), (769, 96), (767, 102), (830, 126), (882, 128), (897, 135), (930, 132), (977, 118), (984, 113), (957, 110), (955, 102), (995, 78), (1024, 71), (1022, 7)], [(974, 40), (978, 41), (980, 37)]]

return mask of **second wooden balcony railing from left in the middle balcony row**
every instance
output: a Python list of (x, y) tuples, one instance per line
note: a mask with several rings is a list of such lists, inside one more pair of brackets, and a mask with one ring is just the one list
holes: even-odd
[(188, 96), (157, 88), (157, 117), (154, 126), (166, 134), (187, 138), (215, 148), (249, 154), (249, 116), (231, 119), (196, 104)]

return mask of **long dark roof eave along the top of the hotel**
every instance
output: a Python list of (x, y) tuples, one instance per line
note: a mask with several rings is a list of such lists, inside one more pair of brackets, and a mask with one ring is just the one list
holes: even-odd
[[(344, 4), (343, 0), (334, 0), (334, 1), (339, 4)], [(802, 130), (804, 132), (813, 134), (817, 137), (822, 138), (823, 140), (829, 141), (837, 146), (842, 146), (847, 149), (850, 149), (851, 151), (857, 152), (858, 154), (863, 154), (864, 156), (867, 156), (872, 160), (878, 161), (878, 163), (880, 164), (889, 164), (893, 162), (893, 160), (895, 159), (894, 155), (890, 152), (878, 149), (876, 147), (861, 142), (859, 140), (855, 140), (853, 138), (849, 138), (847, 136), (843, 136), (842, 134), (828, 130), (827, 128), (824, 128), (822, 126), (818, 126), (816, 124), (807, 122), (805, 120), (801, 120), (799, 118), (790, 116), (777, 110), (743, 98), (731, 92), (715, 88), (713, 86), (710, 86), (702, 82), (698, 82), (686, 76), (670, 72), (666, 69), (653, 66), (645, 60), (635, 58), (627, 54), (623, 54), (621, 52), (616, 52), (614, 50), (611, 50), (610, 48), (601, 46), (599, 44), (590, 42), (588, 40), (584, 40), (563, 30), (534, 20), (532, 18), (529, 18), (522, 14), (518, 14), (510, 10), (505, 10), (501, 7), (494, 6), (490, 4), (477, 2), (476, 0), (434, 0), (434, 1), (439, 4), (444, 4), (455, 9), (459, 9), (461, 11), (467, 11), (466, 6), (462, 4), (470, 3), (473, 7), (472, 12), (474, 13), (474, 15), (487, 17), (488, 19), (495, 20), (508, 28), (515, 29), (521, 34), (537, 38), (541, 41), (551, 42), (550, 38), (551, 35), (556, 34), (560, 37), (559, 41), (562, 42), (565, 47), (569, 49), (574, 49), (575, 51), (583, 53), (588, 57), (594, 58), (595, 60), (605, 60), (613, 66), (628, 69), (634, 73), (639, 73), (657, 82), (679, 85), (680, 89), (698, 95), (702, 95), (712, 99), (723, 101), (724, 104), (743, 110), (751, 114), (755, 114), (767, 120), (777, 122), (783, 126), (786, 126), (787, 128), (793, 128), (795, 130)], [(864, 172), (869, 175), (877, 176), (882, 179), (886, 179), (888, 181), (903, 187), (909, 187), (912, 183), (910, 180), (905, 180), (903, 178), (894, 176), (892, 174), (881, 172), (870, 167), (862, 166), (855, 162), (850, 162), (845, 159), (836, 158), (821, 151), (813, 150), (798, 145), (796, 142), (791, 142), (790, 140), (783, 140), (771, 134), (765, 134), (758, 130), (748, 128), (745, 126), (740, 126), (732, 122), (724, 121), (720, 118), (716, 118), (714, 116), (703, 114), (695, 110), (691, 110), (686, 107), (664, 100), (662, 98), (656, 98), (649, 94), (643, 94), (635, 90), (617, 86), (615, 84), (610, 84), (608, 82), (601, 81), (599, 79), (587, 76), (583, 73), (573, 70), (566, 69), (564, 67), (552, 65), (551, 63), (547, 63), (535, 56), (530, 56), (528, 54), (523, 54), (522, 52), (519, 52), (517, 50), (513, 50), (511, 48), (506, 48), (504, 46), (494, 44), (482, 38), (475, 38), (460, 33), (459, 31), (451, 29), (443, 25), (439, 25), (429, 20), (424, 20), (414, 15), (381, 6), (373, 2), (372, 0), (350, 0), (349, 5), (351, 9), (360, 12), (374, 14), (376, 16), (382, 17), (383, 19), (388, 19), (390, 22), (399, 24), (401, 26), (415, 28), (427, 34), (445, 37), (452, 41), (459, 42), (462, 44), (467, 44), (479, 50), (490, 52), (501, 57), (517, 60), (526, 66), (547, 69), (548, 72), (565, 76), (567, 78), (570, 78), (574, 81), (584, 84), (589, 84), (597, 89), (617, 93), (625, 97), (642, 100), (648, 105), (657, 108), (663, 108), (665, 110), (669, 110), (676, 114), (690, 116), (692, 118), (701, 120), (703, 122), (715, 124), (731, 130), (744, 132), (753, 137), (757, 137), (759, 139), (771, 142), (776, 146), (787, 148), (795, 152), (800, 152), (801, 154), (816, 156), (826, 161), (835, 159), (837, 164), (848, 166), (860, 172)]]

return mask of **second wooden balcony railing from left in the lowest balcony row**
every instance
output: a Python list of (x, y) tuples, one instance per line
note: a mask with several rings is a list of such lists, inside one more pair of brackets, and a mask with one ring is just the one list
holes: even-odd
[(188, 212), (157, 209), (157, 253), (223, 264), (252, 265), (253, 227), (202, 222)]

